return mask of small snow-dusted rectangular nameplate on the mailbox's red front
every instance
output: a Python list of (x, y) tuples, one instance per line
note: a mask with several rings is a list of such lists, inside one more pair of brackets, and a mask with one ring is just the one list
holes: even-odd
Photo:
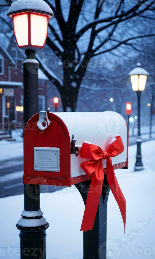
[(60, 172), (60, 149), (34, 147), (34, 170)]

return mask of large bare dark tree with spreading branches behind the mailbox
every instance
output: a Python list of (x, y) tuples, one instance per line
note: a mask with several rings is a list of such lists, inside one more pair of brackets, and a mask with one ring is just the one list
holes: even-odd
[(46, 44), (63, 64), (63, 80), (39, 61), (45, 75), (59, 90), (64, 111), (68, 107), (75, 111), (80, 85), (92, 59), (123, 46), (136, 48), (136, 41), (154, 36), (140, 29), (154, 19), (151, 0), (46, 2), (55, 14), (49, 23)]

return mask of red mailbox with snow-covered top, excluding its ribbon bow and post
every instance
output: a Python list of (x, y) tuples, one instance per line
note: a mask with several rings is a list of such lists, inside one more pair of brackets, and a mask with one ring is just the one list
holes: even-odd
[[(124, 151), (111, 158), (112, 165), (114, 169), (128, 167), (128, 129), (120, 114), (49, 110), (35, 114), (25, 127), (24, 184), (71, 186), (91, 179), (80, 166), (88, 160), (81, 157), (81, 146), (90, 143), (106, 150), (118, 136)], [(104, 173), (106, 163), (103, 157)]]

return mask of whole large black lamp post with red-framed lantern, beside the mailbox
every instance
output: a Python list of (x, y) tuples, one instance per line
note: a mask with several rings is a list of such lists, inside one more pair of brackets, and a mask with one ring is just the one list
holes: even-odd
[[(12, 17), (17, 45), (25, 49), (23, 63), (24, 82), (24, 127), (28, 120), (38, 112), (38, 66), (36, 51), (45, 45), (49, 18), (53, 11), (40, 0), (40, 10), (31, 0), (13, 2), (8, 11)], [(36, 8), (36, 9), (35, 9)], [(24, 210), (17, 222), (20, 230), (21, 259), (45, 259), (46, 229), (49, 227), (40, 210), (40, 185), (24, 185)]]

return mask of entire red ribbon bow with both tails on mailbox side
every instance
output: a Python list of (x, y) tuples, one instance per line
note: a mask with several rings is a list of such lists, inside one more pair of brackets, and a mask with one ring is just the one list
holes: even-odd
[(115, 138), (116, 140), (107, 147), (106, 151), (103, 151), (96, 145), (85, 142), (81, 147), (80, 157), (91, 159), (81, 164), (82, 169), (91, 178), (81, 230), (87, 231), (93, 229), (104, 180), (102, 159), (106, 159), (106, 176), (108, 184), (119, 206), (125, 231), (126, 201), (117, 182), (111, 159), (111, 157), (121, 154), (124, 151), (124, 146), (120, 136)]

